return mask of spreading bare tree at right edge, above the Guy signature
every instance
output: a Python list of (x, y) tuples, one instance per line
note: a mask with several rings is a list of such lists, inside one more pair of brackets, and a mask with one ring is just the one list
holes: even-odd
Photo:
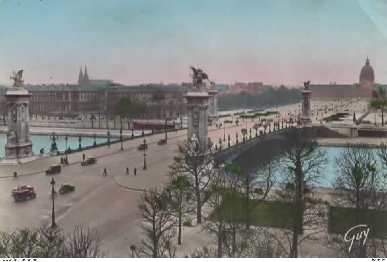
[[(387, 209), (385, 199), (386, 178), (377, 165), (379, 155), (384, 165), (387, 163), (385, 147), (378, 152), (367, 144), (347, 144), (335, 159), (336, 177), (334, 180), (335, 195), (332, 198), (335, 206), (351, 212), (347, 220), (352, 226), (366, 224), (373, 231), (363, 245), (345, 242), (342, 235), (327, 236), (327, 245), (337, 256), (341, 257), (380, 257), (386, 256), (385, 241), (382, 236), (375, 236), (375, 228), (382, 223), (377, 214)], [(376, 211), (376, 212), (375, 212)], [(348, 222), (349, 222), (348, 221)], [(351, 228), (352, 226), (349, 226)]]

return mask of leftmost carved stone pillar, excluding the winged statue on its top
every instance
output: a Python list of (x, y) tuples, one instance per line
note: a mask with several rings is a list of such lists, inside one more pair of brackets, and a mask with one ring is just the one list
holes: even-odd
[(27, 90), (10, 90), (4, 95), (8, 106), (7, 143), (2, 165), (17, 165), (36, 160), (33, 155), (32, 142), (29, 140), (28, 100), (31, 94)]

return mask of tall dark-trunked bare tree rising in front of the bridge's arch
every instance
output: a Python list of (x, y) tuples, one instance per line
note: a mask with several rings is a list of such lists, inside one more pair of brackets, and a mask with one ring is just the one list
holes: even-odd
[[(323, 201), (313, 194), (312, 186), (320, 181), (327, 157), (326, 151), (318, 147), (313, 134), (306, 129), (290, 129), (287, 140), (289, 145), (281, 158), (281, 173), (287, 183), (278, 196), (280, 201), (294, 205), (292, 230), (286, 238), (289, 257), (298, 257), (298, 245), (324, 231)], [(303, 228), (307, 233), (303, 233)]]

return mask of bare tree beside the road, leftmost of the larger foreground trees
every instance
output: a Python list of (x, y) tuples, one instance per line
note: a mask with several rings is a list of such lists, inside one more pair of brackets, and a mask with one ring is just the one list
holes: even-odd
[(146, 257), (164, 257), (168, 249), (174, 253), (171, 238), (174, 236), (175, 221), (166, 193), (158, 189), (144, 192), (139, 210), (145, 236), (141, 241), (140, 253)]

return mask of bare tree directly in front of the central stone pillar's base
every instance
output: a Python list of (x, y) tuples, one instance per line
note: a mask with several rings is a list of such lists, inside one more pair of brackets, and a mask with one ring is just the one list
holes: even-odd
[(179, 145), (180, 154), (174, 158), (171, 172), (185, 175), (190, 184), (196, 204), (196, 220), (202, 223), (202, 207), (212, 177), (214, 176), (214, 160), (212, 152), (207, 150), (205, 141), (184, 141)]

